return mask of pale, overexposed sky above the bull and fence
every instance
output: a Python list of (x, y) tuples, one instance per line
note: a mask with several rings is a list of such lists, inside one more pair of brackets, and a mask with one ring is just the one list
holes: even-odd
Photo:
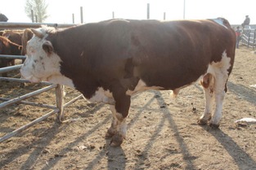
[[(29, 23), (25, 14), (26, 0), (3, 0), (0, 12), (7, 15), (8, 22)], [(183, 20), (184, 0), (45, 0), (48, 19), (45, 23), (79, 24), (80, 7), (83, 7), (83, 23), (98, 22), (112, 18), (146, 19), (146, 7), (150, 4), (150, 19)], [(185, 19), (213, 19), (224, 17), (231, 24), (241, 24), (249, 15), (250, 24), (256, 24), (256, 0), (185, 0)]]

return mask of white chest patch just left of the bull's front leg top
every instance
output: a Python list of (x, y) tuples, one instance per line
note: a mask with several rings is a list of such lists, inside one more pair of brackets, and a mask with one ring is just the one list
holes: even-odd
[(90, 102), (104, 102), (108, 104), (115, 104), (115, 100), (113, 98), (110, 90), (104, 90), (103, 88), (97, 89), (92, 98), (88, 99)]

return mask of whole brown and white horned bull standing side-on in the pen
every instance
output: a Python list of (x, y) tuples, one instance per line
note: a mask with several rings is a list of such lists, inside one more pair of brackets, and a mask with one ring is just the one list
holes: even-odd
[(225, 19), (106, 20), (33, 32), (22, 76), (69, 85), (92, 102), (110, 104), (113, 121), (106, 136), (112, 137), (111, 146), (119, 146), (126, 135), (132, 94), (146, 89), (177, 94), (200, 80), (206, 102), (198, 122), (220, 124), (236, 45)]

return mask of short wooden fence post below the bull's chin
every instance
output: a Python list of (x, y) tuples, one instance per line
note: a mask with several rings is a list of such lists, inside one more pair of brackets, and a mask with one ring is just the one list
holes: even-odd
[(64, 103), (64, 85), (56, 86), (56, 107), (59, 109), (57, 118), (60, 122), (64, 120), (63, 103)]

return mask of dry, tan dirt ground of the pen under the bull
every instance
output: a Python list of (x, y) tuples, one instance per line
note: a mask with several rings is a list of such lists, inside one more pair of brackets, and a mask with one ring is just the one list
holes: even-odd
[[(256, 169), (256, 124), (235, 124), (256, 118), (256, 54), (236, 50), (219, 129), (196, 122), (204, 111), (199, 84), (170, 91), (147, 91), (132, 98), (127, 138), (120, 147), (105, 139), (111, 113), (104, 104), (84, 99), (65, 109), (66, 123), (56, 116), (0, 143), (0, 169)], [(14, 98), (40, 85), (0, 82), (0, 97)], [(65, 101), (79, 93), (66, 88)], [(28, 101), (55, 104), (51, 90)], [(3, 108), (0, 137), (51, 111), (28, 105)]]

